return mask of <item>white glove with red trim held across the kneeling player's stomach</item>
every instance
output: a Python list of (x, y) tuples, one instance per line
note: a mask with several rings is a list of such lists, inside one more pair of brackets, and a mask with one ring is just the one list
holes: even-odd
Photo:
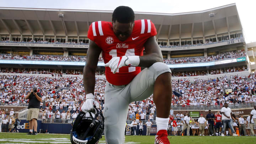
[(110, 67), (113, 71), (113, 74), (116, 73), (117, 69), (122, 68), (123, 66), (138, 66), (140, 62), (139, 56), (123, 56), (123, 57), (113, 57), (108, 63), (104, 66)]

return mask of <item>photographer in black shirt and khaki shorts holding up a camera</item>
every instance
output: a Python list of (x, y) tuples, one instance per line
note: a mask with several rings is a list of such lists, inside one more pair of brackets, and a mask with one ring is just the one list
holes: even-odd
[(40, 102), (42, 102), (42, 95), (37, 92), (37, 87), (33, 86), (32, 90), (26, 95), (25, 99), (29, 99), (27, 121), (29, 121), (30, 132), (27, 134), (37, 135), (37, 118), (40, 108)]

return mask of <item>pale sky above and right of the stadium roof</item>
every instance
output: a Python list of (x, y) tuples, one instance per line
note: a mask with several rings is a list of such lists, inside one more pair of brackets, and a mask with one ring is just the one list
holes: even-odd
[(212, 9), (236, 3), (244, 29), (246, 43), (256, 41), (256, 1), (254, 0), (0, 0), (1, 7), (50, 9), (114, 10), (117, 6), (130, 6), (137, 12), (180, 13)]

